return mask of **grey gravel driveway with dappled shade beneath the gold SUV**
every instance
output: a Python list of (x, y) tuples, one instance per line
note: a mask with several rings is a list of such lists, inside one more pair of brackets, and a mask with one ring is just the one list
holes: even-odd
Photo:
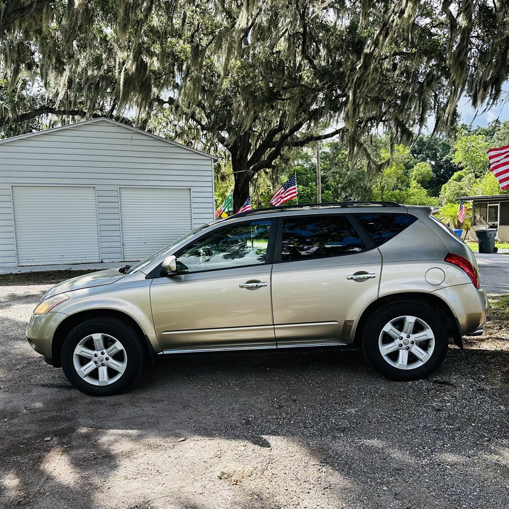
[(0, 288), (0, 507), (509, 506), (503, 325), (429, 380), (359, 352), (195, 355), (94, 399), (24, 340), (48, 287)]

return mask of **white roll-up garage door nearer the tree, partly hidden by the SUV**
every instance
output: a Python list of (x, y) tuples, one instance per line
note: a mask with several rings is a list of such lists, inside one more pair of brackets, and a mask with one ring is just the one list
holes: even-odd
[(121, 187), (124, 260), (142, 260), (192, 230), (190, 189)]

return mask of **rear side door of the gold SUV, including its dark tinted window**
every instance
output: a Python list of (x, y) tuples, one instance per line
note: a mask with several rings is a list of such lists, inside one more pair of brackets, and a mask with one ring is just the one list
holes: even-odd
[(277, 238), (277, 347), (349, 343), (361, 310), (378, 294), (379, 250), (347, 214), (281, 218)]

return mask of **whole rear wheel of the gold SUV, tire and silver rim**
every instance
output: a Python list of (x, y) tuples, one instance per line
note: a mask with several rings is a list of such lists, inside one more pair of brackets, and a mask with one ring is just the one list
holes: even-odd
[(440, 317), (418, 302), (398, 303), (376, 312), (364, 328), (367, 360), (391, 380), (417, 380), (434, 373), (447, 354)]

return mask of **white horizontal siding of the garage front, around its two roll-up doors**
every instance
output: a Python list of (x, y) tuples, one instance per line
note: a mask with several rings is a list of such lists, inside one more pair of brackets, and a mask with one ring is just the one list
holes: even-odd
[(127, 260), (122, 256), (119, 186), (190, 188), (194, 227), (214, 218), (210, 157), (102, 119), (3, 143), (0, 172), (7, 186), (7, 191), (0, 189), (4, 266), (16, 265), (10, 185), (96, 186), (105, 262)]

